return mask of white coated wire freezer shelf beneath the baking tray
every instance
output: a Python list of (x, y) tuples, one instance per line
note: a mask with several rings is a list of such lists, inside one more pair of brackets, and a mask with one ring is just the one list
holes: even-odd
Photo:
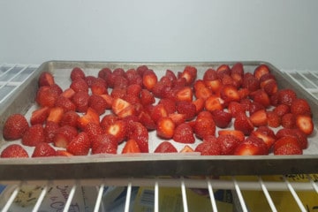
[[(38, 65), (26, 64), (0, 64), (0, 104), (12, 95), (19, 85), (21, 85)], [(295, 83), (305, 88), (310, 95), (318, 98), (318, 72), (309, 71), (283, 71), (288, 74)], [(5, 173), (2, 173), (5, 174)], [(135, 201), (134, 191), (136, 187), (148, 187), (151, 193), (148, 193), (147, 202), (150, 204), (150, 210), (142, 211), (165, 211), (161, 205), (161, 193), (163, 188), (177, 188), (180, 192), (180, 210), (192, 211), (190, 205), (189, 189), (203, 189), (204, 196), (208, 200), (208, 211), (224, 211), (220, 207), (216, 198), (216, 191), (231, 191), (231, 211), (252, 211), (251, 196), (248, 192), (261, 193), (262, 201), (266, 202), (267, 208), (258, 208), (257, 211), (284, 211), (282, 206), (277, 204), (276, 193), (290, 196), (290, 204), (294, 207), (293, 211), (318, 211), (318, 175), (285, 175), (285, 176), (230, 176), (221, 178), (97, 178), (82, 180), (32, 180), (32, 181), (0, 181), (0, 207), (1, 211), (18, 211), (17, 198), (21, 193), (26, 193), (26, 188), (37, 189), (36, 194), (28, 193), (24, 201), (32, 201), (33, 204), (21, 207), (19, 211), (136, 211), (133, 209)], [(65, 188), (62, 193), (63, 201), (59, 208), (46, 209), (49, 194), (53, 188)], [(88, 207), (88, 199), (81, 199), (84, 202), (84, 208), (74, 207), (74, 201), (78, 199), (78, 193), (82, 196), (85, 193), (83, 188), (94, 188), (90, 190), (91, 196)], [(105, 203), (107, 189), (110, 187), (124, 187), (124, 201), (120, 209), (108, 209)], [(67, 188), (67, 189), (66, 189)], [(61, 190), (62, 191), (62, 190)], [(303, 193), (309, 194), (304, 195)], [(87, 193), (86, 193), (87, 194)], [(53, 197), (50, 196), (50, 201)], [(253, 198), (252, 198), (253, 199)], [(106, 200), (107, 201), (107, 200)], [(145, 200), (144, 200), (145, 201)], [(260, 201), (255, 199), (252, 201)], [(309, 203), (308, 203), (309, 202)], [(312, 203), (314, 202), (314, 203)], [(19, 203), (19, 202), (18, 202)], [(197, 203), (197, 202), (196, 202)], [(200, 205), (200, 203), (199, 203)], [(50, 205), (51, 206), (51, 205)], [(198, 207), (198, 203), (197, 203)], [(149, 209), (149, 208), (148, 208)], [(141, 211), (141, 210), (140, 210)], [(196, 211), (201, 211), (200, 208)], [(206, 211), (206, 210), (204, 210)]]

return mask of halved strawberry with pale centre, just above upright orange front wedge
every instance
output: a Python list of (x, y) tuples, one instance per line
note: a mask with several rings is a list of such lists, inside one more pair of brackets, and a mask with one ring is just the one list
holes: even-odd
[(115, 137), (117, 143), (121, 143), (126, 138), (127, 124), (123, 120), (117, 120), (105, 128), (105, 133)]

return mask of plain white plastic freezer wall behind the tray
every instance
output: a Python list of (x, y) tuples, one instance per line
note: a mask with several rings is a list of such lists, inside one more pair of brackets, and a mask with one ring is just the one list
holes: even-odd
[(316, 0), (0, 0), (0, 63), (241, 61), (318, 70)]

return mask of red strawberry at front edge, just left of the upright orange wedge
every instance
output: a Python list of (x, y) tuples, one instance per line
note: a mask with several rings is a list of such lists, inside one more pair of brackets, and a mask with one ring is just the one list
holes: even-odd
[(117, 154), (117, 140), (110, 134), (98, 134), (91, 140), (92, 154)]

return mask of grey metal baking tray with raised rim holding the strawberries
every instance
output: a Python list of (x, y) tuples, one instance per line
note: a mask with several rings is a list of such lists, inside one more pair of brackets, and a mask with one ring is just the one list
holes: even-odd
[[(0, 108), (0, 149), (7, 145), (2, 134), (5, 119), (12, 113), (28, 116), (34, 108), (37, 79), (41, 72), (49, 71), (55, 76), (57, 84), (66, 88), (70, 85), (70, 72), (73, 67), (82, 68), (87, 75), (97, 76), (104, 67), (137, 68), (141, 64), (153, 69), (158, 78), (167, 69), (182, 72), (191, 64), (198, 69), (198, 78), (208, 68), (217, 68), (221, 64), (236, 62), (204, 63), (116, 63), (88, 61), (48, 61), (43, 63), (19, 91), (11, 95)], [(314, 125), (317, 126), (318, 102), (306, 90), (292, 83), (292, 79), (275, 66), (262, 61), (246, 61), (245, 72), (254, 72), (259, 64), (267, 64), (276, 76), (279, 88), (292, 87), (297, 95), (306, 98), (314, 113)], [(27, 159), (0, 159), (0, 181), (20, 179), (67, 179), (67, 178), (120, 178), (148, 176), (224, 176), (224, 175), (272, 175), (291, 173), (316, 173), (318, 171), (317, 130), (309, 137), (309, 148), (304, 155), (196, 155), (196, 154), (136, 154), (136, 155), (87, 155), (73, 157), (49, 157)], [(155, 136), (149, 136), (149, 146), (159, 144)]]

